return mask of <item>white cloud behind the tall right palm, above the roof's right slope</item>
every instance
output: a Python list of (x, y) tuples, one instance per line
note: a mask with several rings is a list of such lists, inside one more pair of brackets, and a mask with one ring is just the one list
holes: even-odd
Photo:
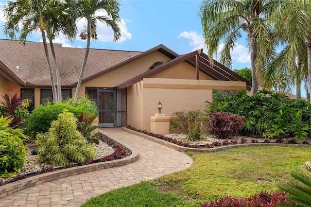
[[(182, 32), (180, 35), (178, 35), (178, 37), (184, 37), (184, 38), (190, 39), (189, 45), (192, 47), (192, 51), (196, 51), (196, 50), (203, 48), (204, 52), (206, 52), (206, 45), (204, 42), (203, 35), (199, 35), (195, 31), (192, 31), (192, 32), (185, 31), (185, 32)], [(217, 57), (215, 57), (216, 60), (219, 60), (219, 57), (220, 57), (219, 54), (223, 48), (224, 48), (224, 43), (221, 43), (218, 46), (218, 52), (217, 52), (218, 55)], [(232, 60), (235, 60), (236, 62), (239, 62), (239, 63), (249, 63), (250, 58), (249, 58), (248, 48), (238, 43), (235, 43), (235, 47), (233, 51), (231, 52), (231, 58)]]

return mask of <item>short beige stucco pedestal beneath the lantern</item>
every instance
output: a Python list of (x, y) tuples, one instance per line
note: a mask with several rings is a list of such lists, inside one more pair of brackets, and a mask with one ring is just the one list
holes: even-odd
[(170, 134), (170, 117), (165, 114), (150, 117), (150, 131), (155, 134)]

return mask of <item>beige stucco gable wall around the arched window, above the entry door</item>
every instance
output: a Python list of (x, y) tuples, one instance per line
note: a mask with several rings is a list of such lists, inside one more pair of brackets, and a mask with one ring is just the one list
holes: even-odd
[[(170, 58), (161, 52), (155, 51), (135, 61), (132, 61), (118, 69), (114, 69), (86, 83), (80, 88), (79, 95), (86, 94), (86, 87), (115, 87), (119, 84), (138, 76), (139, 74), (149, 70), (149, 68), (157, 61), (167, 62)], [(75, 91), (75, 88), (73, 88)], [(72, 91), (73, 91), (72, 90)]]

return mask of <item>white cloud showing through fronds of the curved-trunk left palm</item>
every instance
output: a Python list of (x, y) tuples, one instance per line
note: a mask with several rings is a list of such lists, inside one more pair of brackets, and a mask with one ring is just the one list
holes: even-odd
[[(98, 11), (95, 13), (96, 16), (106, 16), (107, 13), (105, 11)], [(132, 38), (132, 34), (128, 32), (126, 23), (130, 22), (129, 20), (121, 19), (121, 22), (119, 23), (119, 28), (121, 30), (121, 36), (118, 42), (124, 42), (127, 39)], [(80, 35), (81, 31), (86, 27), (86, 19), (82, 18), (77, 23), (78, 27), (78, 35)], [(108, 27), (105, 23), (97, 22), (97, 38), (100, 42), (112, 42), (114, 35), (113, 30)], [(79, 38), (79, 37), (78, 37)]]

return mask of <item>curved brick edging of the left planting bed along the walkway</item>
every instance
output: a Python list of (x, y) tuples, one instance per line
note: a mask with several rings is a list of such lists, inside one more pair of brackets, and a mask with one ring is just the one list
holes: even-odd
[[(109, 137), (106, 133), (104, 133), (102, 130), (100, 130), (105, 136)], [(111, 137), (109, 137), (111, 138)], [(97, 170), (102, 170), (102, 169), (107, 169), (107, 168), (113, 168), (113, 167), (118, 167), (118, 166), (123, 166), (127, 165), (129, 163), (135, 162), (138, 160), (138, 151), (134, 148), (129, 149), (124, 145), (124, 142), (120, 140), (116, 140), (115, 138), (112, 138), (115, 142), (121, 144), (124, 148), (128, 149), (131, 152), (131, 155), (122, 158), (122, 159), (117, 159), (117, 160), (112, 160), (112, 161), (106, 161), (106, 162), (98, 162), (98, 163), (93, 163), (89, 165), (82, 165), (82, 166), (77, 166), (77, 167), (72, 167), (72, 168), (66, 168), (62, 170), (57, 170), (53, 171), (50, 173), (43, 173), (31, 177), (27, 177), (22, 180), (15, 181), (13, 183), (8, 183), (3, 186), (0, 186), (0, 198), (3, 198), (4, 196), (10, 195), (14, 192), (17, 192), (19, 190), (24, 190), (30, 187), (33, 187), (38, 184), (50, 182), (53, 180), (57, 180), (60, 178), (68, 177), (71, 175), (76, 175), (76, 174), (82, 174), (82, 173), (87, 173), (87, 172), (92, 172), (92, 171), (97, 171)]]

